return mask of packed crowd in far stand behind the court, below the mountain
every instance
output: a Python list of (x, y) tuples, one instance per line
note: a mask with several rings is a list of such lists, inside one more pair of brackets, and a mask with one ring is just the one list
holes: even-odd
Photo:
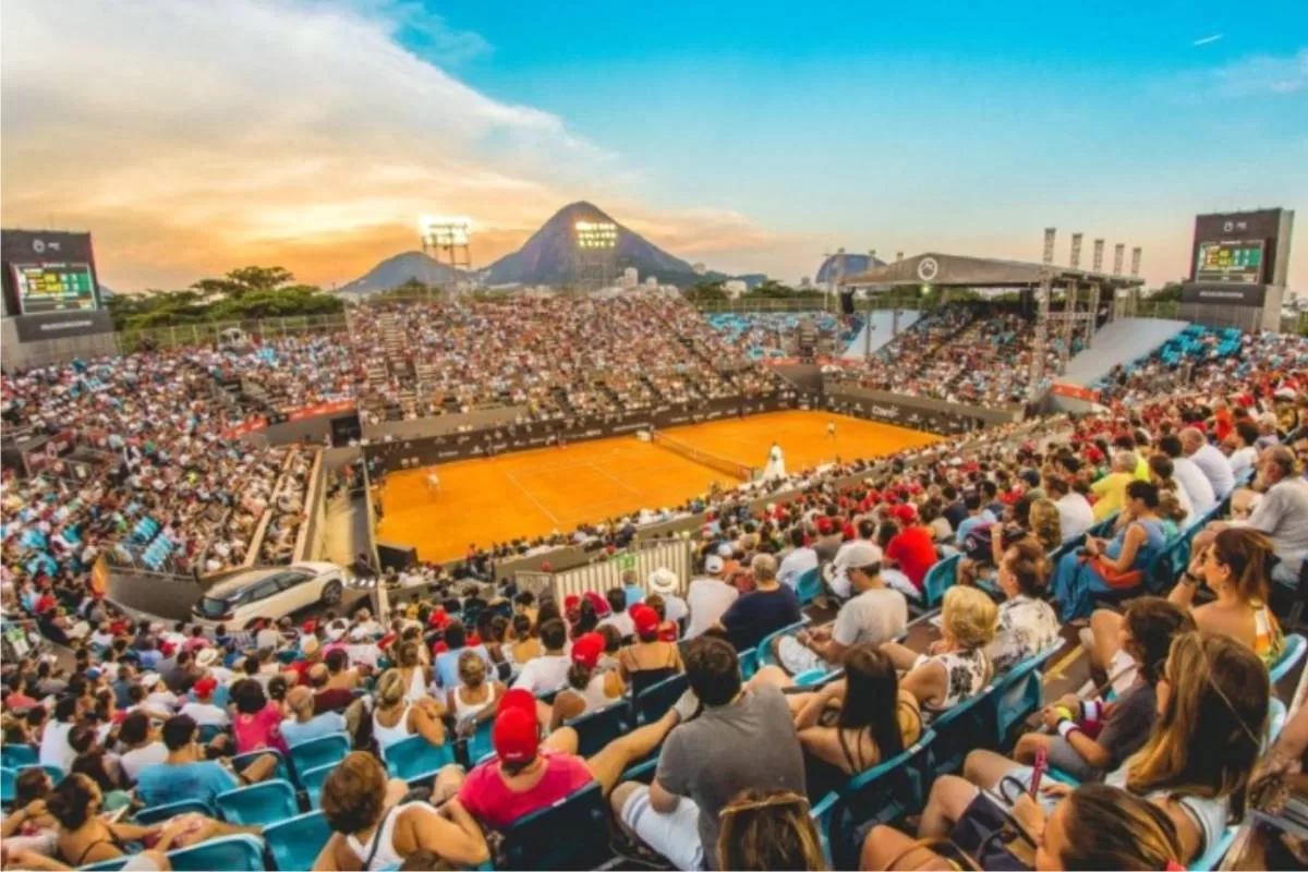
[(194, 358), (280, 409), (354, 399), (373, 421), (489, 405), (608, 414), (776, 387), (679, 297), (646, 293), (361, 306), (347, 332)]

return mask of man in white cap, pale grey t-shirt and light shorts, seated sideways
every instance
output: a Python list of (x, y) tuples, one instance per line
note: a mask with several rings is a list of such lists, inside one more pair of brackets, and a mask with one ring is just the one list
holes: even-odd
[(861, 539), (841, 548), (832, 565), (835, 575), (848, 583), (855, 596), (840, 607), (833, 622), (774, 642), (777, 660), (787, 672), (833, 669), (850, 647), (889, 642), (904, 631), (908, 600), (886, 586), (880, 574), (883, 558), (880, 548)]

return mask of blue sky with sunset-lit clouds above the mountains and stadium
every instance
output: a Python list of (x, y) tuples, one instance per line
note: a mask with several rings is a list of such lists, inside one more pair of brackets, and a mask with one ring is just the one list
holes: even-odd
[[(1186, 271), (1197, 212), (1308, 207), (1308, 3), (5, 0), (7, 224), (89, 226), (126, 289), (348, 281), (467, 214), (473, 259), (590, 199), (689, 260)], [(54, 41), (61, 51), (51, 52)], [(1308, 214), (1300, 217), (1300, 227)], [(1291, 285), (1308, 289), (1308, 238)]]

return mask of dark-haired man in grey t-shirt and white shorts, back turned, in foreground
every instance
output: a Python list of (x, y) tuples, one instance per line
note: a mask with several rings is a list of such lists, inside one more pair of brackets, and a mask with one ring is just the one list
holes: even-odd
[(781, 690), (742, 690), (735, 648), (701, 638), (685, 654), (697, 718), (663, 743), (654, 782), (619, 784), (623, 826), (680, 869), (718, 868), (718, 814), (743, 790), (804, 795), (804, 760)]

